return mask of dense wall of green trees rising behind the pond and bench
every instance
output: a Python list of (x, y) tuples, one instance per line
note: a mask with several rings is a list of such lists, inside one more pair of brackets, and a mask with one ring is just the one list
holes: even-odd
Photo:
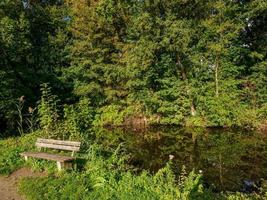
[(257, 127), (267, 115), (266, 9), (262, 0), (1, 1), (1, 128), (28, 129), (42, 83), (65, 109), (90, 112), (76, 116), (79, 129)]

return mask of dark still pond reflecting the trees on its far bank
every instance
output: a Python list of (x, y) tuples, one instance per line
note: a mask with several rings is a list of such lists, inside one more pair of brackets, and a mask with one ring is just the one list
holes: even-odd
[(178, 171), (201, 172), (205, 183), (217, 191), (254, 190), (267, 179), (267, 137), (252, 131), (153, 127), (101, 130), (99, 141), (123, 144), (131, 164), (152, 173), (173, 155)]

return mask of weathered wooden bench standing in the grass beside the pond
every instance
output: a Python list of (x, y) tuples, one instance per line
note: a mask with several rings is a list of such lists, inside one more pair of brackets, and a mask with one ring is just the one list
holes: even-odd
[[(39, 149), (39, 152), (24, 152), (21, 153), (20, 155), (24, 156), (26, 161), (28, 160), (28, 157), (56, 161), (58, 170), (61, 170), (63, 168), (66, 169), (72, 167), (72, 161), (75, 160), (75, 158), (73, 157), (74, 153), (80, 150), (81, 143), (74, 141), (38, 138), (35, 145)], [(45, 153), (41, 152), (42, 148), (65, 150), (65, 151), (71, 151), (72, 153), (71, 156)]]

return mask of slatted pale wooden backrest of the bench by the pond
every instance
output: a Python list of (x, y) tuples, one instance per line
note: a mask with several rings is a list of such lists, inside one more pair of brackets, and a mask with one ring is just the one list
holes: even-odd
[(72, 151), (73, 154), (75, 151), (80, 150), (81, 142), (38, 138), (36, 141), (36, 146), (38, 148)]

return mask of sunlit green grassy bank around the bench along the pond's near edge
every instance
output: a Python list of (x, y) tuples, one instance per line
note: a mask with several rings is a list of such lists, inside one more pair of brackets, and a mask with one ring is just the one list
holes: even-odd
[[(32, 150), (40, 133), (0, 141), (0, 173), (9, 174), (27, 165), (50, 171), (47, 177), (25, 178), (19, 184), (26, 199), (264, 199), (260, 194), (214, 193), (204, 187), (202, 176), (194, 172), (176, 174), (170, 161), (156, 174), (136, 172), (127, 165), (129, 157), (120, 148), (107, 150), (90, 145), (78, 155), (78, 168), (58, 173), (53, 162), (30, 160), (20, 152)], [(265, 196), (264, 196), (265, 194)]]

